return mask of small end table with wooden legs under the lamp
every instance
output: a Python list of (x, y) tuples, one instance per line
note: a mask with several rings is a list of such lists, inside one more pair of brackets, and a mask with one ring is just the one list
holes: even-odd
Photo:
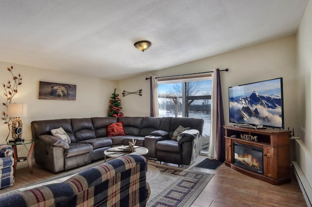
[[(28, 168), (30, 173), (33, 173), (33, 168), (31, 166), (31, 155), (33, 153), (33, 149), (34, 149), (34, 140), (24, 140), (24, 141), (18, 141), (18, 142), (6, 142), (6, 145), (11, 145), (14, 149), (14, 166), (13, 166), (13, 176), (15, 176), (15, 171), (16, 171), (16, 166), (18, 162), (22, 162), (22, 161), (26, 161), (28, 163)], [(17, 149), (17, 145), (26, 145), (26, 144), (31, 144), (29, 152), (27, 157), (18, 157), (18, 149)]]

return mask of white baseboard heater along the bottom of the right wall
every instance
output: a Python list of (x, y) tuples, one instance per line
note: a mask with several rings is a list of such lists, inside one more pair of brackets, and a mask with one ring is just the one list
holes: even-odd
[(293, 165), (294, 173), (295, 173), (295, 176), (296, 176), (297, 181), (299, 183), (300, 189), (301, 189), (302, 194), (306, 200), (307, 206), (312, 207), (311, 206), (312, 188), (309, 185), (309, 182), (308, 182), (306, 176), (304, 175), (304, 173), (302, 172), (299, 164), (296, 161), (292, 161), (292, 165)]

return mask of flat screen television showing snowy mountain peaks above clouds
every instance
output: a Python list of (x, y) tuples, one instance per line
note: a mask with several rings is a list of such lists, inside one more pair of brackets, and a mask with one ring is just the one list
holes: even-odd
[(283, 78), (229, 87), (230, 122), (284, 128)]

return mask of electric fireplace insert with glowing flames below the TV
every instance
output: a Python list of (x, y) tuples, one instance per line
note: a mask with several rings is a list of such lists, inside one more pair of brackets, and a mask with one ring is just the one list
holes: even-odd
[(263, 149), (234, 142), (234, 164), (263, 174)]

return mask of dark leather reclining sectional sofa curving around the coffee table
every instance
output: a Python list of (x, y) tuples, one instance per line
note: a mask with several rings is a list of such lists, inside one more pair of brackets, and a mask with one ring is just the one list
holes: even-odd
[[(123, 122), (125, 136), (108, 137), (106, 128)], [(148, 148), (148, 158), (178, 165), (190, 165), (200, 154), (203, 119), (173, 117), (94, 117), (32, 121), (35, 140), (34, 154), (37, 164), (51, 172), (69, 170), (94, 160), (103, 159), (104, 151), (113, 146), (136, 145)], [(199, 132), (199, 136), (183, 135), (172, 140), (181, 125)], [(71, 143), (51, 134), (51, 129), (62, 127)]]

